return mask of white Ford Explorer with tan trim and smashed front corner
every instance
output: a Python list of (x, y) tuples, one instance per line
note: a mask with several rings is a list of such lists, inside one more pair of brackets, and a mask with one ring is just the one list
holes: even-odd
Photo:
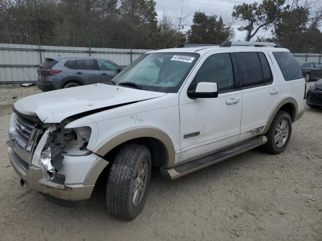
[(18, 100), (8, 152), (28, 191), (64, 200), (90, 198), (107, 175), (109, 213), (133, 219), (151, 167), (175, 179), (259, 146), (281, 153), (304, 104), (300, 67), (279, 44), (178, 46), (108, 84)]

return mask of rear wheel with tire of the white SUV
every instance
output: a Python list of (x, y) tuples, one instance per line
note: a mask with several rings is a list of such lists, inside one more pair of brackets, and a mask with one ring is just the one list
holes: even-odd
[(271, 154), (279, 154), (286, 149), (292, 134), (292, 119), (289, 113), (278, 111), (266, 134), (267, 143), (263, 149)]

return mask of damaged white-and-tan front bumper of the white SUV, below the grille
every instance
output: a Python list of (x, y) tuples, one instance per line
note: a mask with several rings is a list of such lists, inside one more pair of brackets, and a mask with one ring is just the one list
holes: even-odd
[(93, 160), (93, 162), (92, 165), (88, 165), (89, 167), (86, 168), (87, 170), (84, 170), (84, 172), (88, 172), (85, 178), (82, 178), (82, 174), (77, 173), (76, 170), (71, 173), (70, 170), (67, 170), (71, 167), (70, 163), (75, 164), (73, 161), (77, 162), (77, 160), (68, 160), (70, 158), (65, 158), (64, 161), (68, 160), (69, 163), (66, 163), (64, 166), (65, 170), (61, 169), (63, 172), (60, 171), (60, 173), (65, 173), (67, 171), (70, 176), (76, 176), (76, 179), (73, 180), (77, 180), (77, 178), (79, 180), (83, 179), (82, 184), (67, 184), (66, 180), (68, 182), (68, 179), (66, 178), (55, 178), (51, 181), (46, 181), (47, 178), (44, 177), (44, 172), (41, 167), (30, 165), (28, 170), (25, 170), (22, 165), (24, 160), (22, 160), (11, 147), (8, 147), (8, 154), (10, 162), (18, 176), (25, 181), (28, 192), (42, 192), (56, 198), (70, 201), (89, 199), (100, 172), (108, 164), (107, 161), (95, 154), (87, 156), (88, 161), (91, 162), (91, 160)]

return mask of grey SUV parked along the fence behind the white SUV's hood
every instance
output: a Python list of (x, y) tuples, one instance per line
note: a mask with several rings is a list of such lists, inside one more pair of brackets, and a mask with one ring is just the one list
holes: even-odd
[(37, 69), (37, 86), (42, 91), (108, 82), (122, 67), (95, 57), (46, 58)]

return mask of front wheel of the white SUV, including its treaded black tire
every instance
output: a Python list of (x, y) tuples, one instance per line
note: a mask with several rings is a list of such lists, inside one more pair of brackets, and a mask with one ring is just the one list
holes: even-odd
[(108, 212), (119, 219), (134, 219), (143, 209), (151, 175), (151, 155), (138, 144), (123, 146), (112, 164), (106, 187)]

